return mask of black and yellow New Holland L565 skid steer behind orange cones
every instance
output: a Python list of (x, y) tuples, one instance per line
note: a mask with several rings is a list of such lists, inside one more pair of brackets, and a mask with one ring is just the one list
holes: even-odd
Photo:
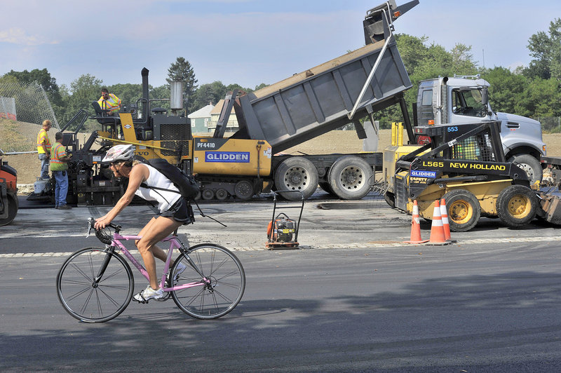
[[(513, 228), (534, 217), (561, 224), (560, 198), (538, 190), (524, 168), (506, 159), (501, 126), (501, 121), (417, 126), (414, 135), (430, 140), (424, 145), (404, 145), (403, 130), (394, 126), (396, 135), (384, 150), (388, 204), (411, 214), (417, 201), (419, 216), (432, 219), (435, 200), (445, 198), (451, 231), (469, 231), (480, 217), (499, 218)], [(551, 161), (558, 169), (560, 160)]]

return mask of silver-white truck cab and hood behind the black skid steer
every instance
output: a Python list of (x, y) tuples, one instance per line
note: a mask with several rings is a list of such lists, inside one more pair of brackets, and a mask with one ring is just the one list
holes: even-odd
[[(500, 121), (501, 142), (506, 159), (525, 170), (532, 183), (541, 181), (541, 156), (546, 144), (541, 124), (531, 118), (494, 112), (488, 100), (489, 83), (476, 76), (439, 77), (419, 83), (417, 125), (462, 125)], [(424, 142), (426, 139), (418, 138)]]

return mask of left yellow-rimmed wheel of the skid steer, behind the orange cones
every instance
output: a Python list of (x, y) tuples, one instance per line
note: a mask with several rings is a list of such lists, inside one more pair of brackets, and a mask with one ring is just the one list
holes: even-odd
[(454, 189), (442, 196), (448, 209), (448, 223), (452, 232), (466, 232), (478, 224), (481, 206), (478, 198), (465, 189)]

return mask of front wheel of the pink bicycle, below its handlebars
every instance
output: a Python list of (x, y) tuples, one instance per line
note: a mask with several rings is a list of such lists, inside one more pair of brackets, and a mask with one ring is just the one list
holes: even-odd
[(74, 252), (57, 276), (60, 304), (86, 323), (103, 323), (119, 316), (134, 289), (133, 272), (125, 259), (99, 247)]

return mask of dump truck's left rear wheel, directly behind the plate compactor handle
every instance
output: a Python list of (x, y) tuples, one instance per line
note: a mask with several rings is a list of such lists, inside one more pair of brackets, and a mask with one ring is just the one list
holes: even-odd
[(318, 170), (306, 158), (287, 158), (276, 168), (275, 186), (280, 195), (290, 201), (299, 201), (302, 196), (283, 192), (301, 191), (307, 199), (318, 189)]

